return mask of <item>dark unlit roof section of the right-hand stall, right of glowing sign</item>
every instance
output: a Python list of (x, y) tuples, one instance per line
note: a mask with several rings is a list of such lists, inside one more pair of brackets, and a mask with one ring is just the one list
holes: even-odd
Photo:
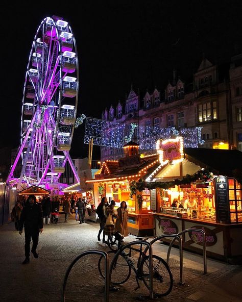
[(213, 173), (232, 176), (233, 170), (242, 169), (242, 152), (238, 150), (184, 148), (185, 158)]

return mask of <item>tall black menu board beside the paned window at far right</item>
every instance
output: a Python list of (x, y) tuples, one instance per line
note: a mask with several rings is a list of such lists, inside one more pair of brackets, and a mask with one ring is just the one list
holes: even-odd
[(225, 176), (219, 175), (214, 182), (217, 220), (230, 223), (228, 180)]

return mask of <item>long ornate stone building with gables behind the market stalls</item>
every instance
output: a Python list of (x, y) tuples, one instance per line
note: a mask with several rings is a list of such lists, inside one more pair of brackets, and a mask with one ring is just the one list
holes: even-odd
[[(203, 127), (200, 147), (237, 148), (242, 151), (242, 55), (231, 58), (231, 64), (214, 65), (203, 58), (191, 83), (184, 83), (173, 72), (173, 81), (164, 92), (157, 88), (141, 98), (131, 86), (122, 104), (107, 108), (105, 120), (125, 123), (129, 136), (131, 124), (143, 127)], [(137, 141), (137, 128), (132, 135)], [(141, 150), (144, 155), (155, 150)], [(101, 147), (101, 160), (122, 158), (123, 148)]]

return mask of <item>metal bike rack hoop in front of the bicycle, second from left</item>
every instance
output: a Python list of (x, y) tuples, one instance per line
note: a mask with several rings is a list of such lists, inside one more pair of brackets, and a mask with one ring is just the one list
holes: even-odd
[[(180, 238), (180, 237), (179, 237)], [(113, 260), (112, 260), (112, 263), (114, 261), (116, 261), (117, 257), (122, 253), (122, 251), (128, 247), (130, 247), (131, 245), (136, 245), (136, 244), (144, 244), (144, 245), (147, 245), (147, 250), (149, 249), (150, 253), (149, 253), (149, 261), (150, 261), (150, 267), (149, 267), (149, 272), (150, 272), (150, 298), (151, 299), (154, 299), (154, 292), (153, 292), (153, 273), (152, 273), (152, 264), (153, 264), (153, 250), (152, 250), (152, 245), (150, 242), (147, 242), (147, 241), (142, 241), (142, 240), (137, 240), (137, 241), (132, 241), (132, 242), (129, 242), (125, 245), (123, 245), (119, 250), (118, 252), (114, 255), (113, 257)], [(112, 263), (111, 263), (111, 266), (112, 266)], [(110, 267), (111, 267), (110, 266)], [(109, 284), (111, 283), (111, 274), (112, 272), (110, 272), (110, 275), (109, 275)]]

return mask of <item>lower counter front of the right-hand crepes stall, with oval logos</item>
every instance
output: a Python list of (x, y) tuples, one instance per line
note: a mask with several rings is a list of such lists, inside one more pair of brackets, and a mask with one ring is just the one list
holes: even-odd
[[(196, 218), (180, 218), (174, 215), (154, 213), (154, 236), (178, 234), (186, 229), (201, 229), (206, 234), (207, 256), (231, 264), (242, 263), (241, 232), (242, 223), (224, 224)], [(170, 243), (172, 239), (165, 238)], [(201, 233), (183, 234), (183, 248), (203, 253)]]

